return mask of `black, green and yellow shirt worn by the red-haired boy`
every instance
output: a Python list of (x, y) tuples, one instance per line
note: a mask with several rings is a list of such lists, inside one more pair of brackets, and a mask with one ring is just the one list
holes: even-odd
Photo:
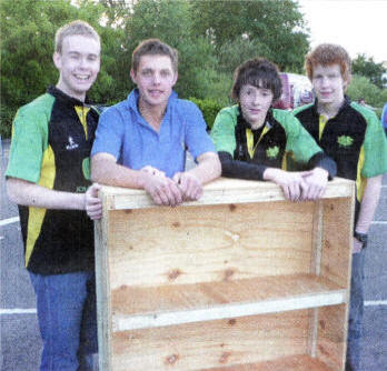
[[(387, 172), (387, 141), (376, 114), (348, 97), (336, 117), (320, 124), (317, 101), (294, 111), (304, 128), (337, 163), (337, 176), (356, 181), (357, 201), (365, 179)], [(322, 128), (324, 127), (324, 128)]]

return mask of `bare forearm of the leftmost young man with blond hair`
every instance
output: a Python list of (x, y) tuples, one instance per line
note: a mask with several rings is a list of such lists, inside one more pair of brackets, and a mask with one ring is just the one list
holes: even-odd
[(85, 210), (85, 193), (71, 193), (51, 190), (21, 179), (9, 178), (7, 191), (10, 200), (17, 204), (43, 208)]

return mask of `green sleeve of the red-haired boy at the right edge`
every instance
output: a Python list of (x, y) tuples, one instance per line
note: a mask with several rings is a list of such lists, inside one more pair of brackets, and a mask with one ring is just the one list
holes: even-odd
[(361, 176), (373, 178), (387, 172), (387, 140), (380, 121), (374, 112), (367, 112)]

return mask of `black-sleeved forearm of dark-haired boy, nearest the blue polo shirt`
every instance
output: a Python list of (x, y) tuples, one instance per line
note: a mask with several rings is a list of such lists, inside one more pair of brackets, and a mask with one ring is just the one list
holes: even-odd
[(219, 152), (221, 162), (221, 176), (227, 178), (238, 178), (247, 180), (264, 180), (264, 166), (234, 160), (231, 154)]

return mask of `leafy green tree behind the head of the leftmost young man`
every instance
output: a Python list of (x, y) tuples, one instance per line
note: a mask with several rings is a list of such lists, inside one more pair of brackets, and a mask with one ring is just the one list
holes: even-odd
[[(119, 40), (115, 36), (116, 30), (100, 26), (103, 13), (105, 8), (91, 1), (80, 1), (78, 7), (70, 0), (0, 2), (2, 134), (10, 133), (10, 121), (20, 106), (43, 93), (49, 84), (58, 81), (58, 70), (52, 62), (54, 33), (59, 27), (76, 19), (93, 26), (102, 41), (103, 63), (90, 97), (97, 102), (116, 100), (116, 90), (111, 89), (115, 80), (111, 71), (116, 58), (111, 53), (113, 49), (119, 50)], [(103, 50), (105, 44), (109, 44), (110, 54)]]

